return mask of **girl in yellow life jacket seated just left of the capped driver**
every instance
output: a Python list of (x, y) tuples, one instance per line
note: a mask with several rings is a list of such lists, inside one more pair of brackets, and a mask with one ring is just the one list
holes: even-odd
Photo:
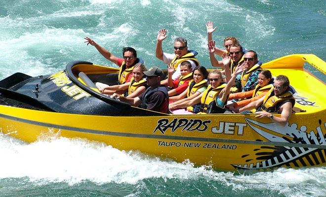
[(143, 94), (148, 88), (146, 82), (146, 75), (143, 73), (147, 71), (147, 68), (143, 64), (136, 64), (132, 70), (133, 77), (130, 82), (122, 85), (114, 85), (105, 88), (101, 88), (102, 94), (113, 95), (114, 93), (123, 94), (128, 98), (135, 98)]

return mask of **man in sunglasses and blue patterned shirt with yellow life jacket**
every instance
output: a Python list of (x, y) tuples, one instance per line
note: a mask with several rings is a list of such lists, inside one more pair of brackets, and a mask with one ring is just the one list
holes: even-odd
[(258, 62), (257, 53), (250, 50), (244, 54), (244, 63), (247, 68), (237, 75), (236, 85), (238, 92), (246, 92), (255, 89), (258, 83), (258, 73), (261, 70), (261, 62)]

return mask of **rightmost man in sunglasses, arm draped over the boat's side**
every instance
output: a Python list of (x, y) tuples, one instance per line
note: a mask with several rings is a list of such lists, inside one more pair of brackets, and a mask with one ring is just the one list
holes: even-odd
[[(295, 104), (294, 93), (295, 90), (290, 86), (288, 78), (285, 75), (279, 75), (275, 79), (274, 88), (264, 97), (240, 108), (239, 111), (245, 112), (257, 109), (255, 112), (257, 114), (256, 118), (269, 118), (276, 124), (285, 127)], [(280, 113), (281, 117), (274, 116), (272, 113)]]

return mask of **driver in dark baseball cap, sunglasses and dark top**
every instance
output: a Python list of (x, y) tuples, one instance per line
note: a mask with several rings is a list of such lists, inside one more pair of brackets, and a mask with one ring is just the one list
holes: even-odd
[(144, 72), (147, 76), (147, 85), (150, 86), (146, 91), (136, 98), (125, 98), (119, 94), (113, 94), (111, 98), (116, 97), (122, 102), (129, 103), (132, 106), (139, 106), (144, 109), (168, 113), (168, 94), (165, 86), (161, 85), (164, 73), (161, 68), (153, 66)]

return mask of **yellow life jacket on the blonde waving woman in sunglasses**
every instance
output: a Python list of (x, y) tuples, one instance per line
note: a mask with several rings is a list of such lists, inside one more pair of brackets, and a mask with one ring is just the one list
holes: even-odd
[[(211, 113), (224, 113), (225, 112), (225, 105), (227, 102), (224, 103), (223, 107), (217, 106), (216, 98), (220, 94), (220, 92), (225, 88), (226, 84), (223, 83), (216, 87), (215, 89), (212, 89), (211, 85), (207, 87), (207, 90), (203, 93), (202, 100), (201, 100), (201, 109), (200, 111), (203, 112), (203, 114), (211, 114)], [(230, 93), (228, 93), (228, 97), (226, 100), (229, 99)]]

